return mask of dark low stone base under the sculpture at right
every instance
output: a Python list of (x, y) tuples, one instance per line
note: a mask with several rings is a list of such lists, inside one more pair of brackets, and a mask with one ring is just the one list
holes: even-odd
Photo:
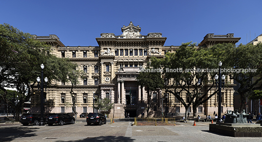
[(260, 124), (216, 123), (209, 124), (209, 131), (231, 137), (262, 137)]

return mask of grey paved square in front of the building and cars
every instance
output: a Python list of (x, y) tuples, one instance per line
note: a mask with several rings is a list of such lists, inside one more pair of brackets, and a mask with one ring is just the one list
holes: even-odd
[(23, 126), (0, 123), (0, 142), (261, 142), (262, 138), (234, 138), (209, 132), (211, 122), (176, 122), (176, 125), (131, 126), (132, 119), (87, 126), (86, 118), (75, 124)]

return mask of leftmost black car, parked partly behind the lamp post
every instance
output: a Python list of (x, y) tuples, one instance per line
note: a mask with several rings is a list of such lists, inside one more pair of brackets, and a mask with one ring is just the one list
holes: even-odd
[[(40, 113), (23, 113), (20, 117), (20, 121), (24, 126), (28, 124), (39, 125), (41, 117)], [(45, 121), (46, 114), (44, 114), (43, 120)]]

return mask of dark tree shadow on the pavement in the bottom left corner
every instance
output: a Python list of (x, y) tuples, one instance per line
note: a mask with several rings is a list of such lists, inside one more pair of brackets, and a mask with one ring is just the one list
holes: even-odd
[(0, 142), (10, 142), (16, 138), (33, 137), (36, 134), (28, 134), (36, 131), (36, 127), (4, 127), (0, 128)]

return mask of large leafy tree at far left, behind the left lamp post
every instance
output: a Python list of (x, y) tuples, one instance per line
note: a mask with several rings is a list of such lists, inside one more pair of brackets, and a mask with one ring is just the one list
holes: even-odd
[[(48, 83), (52, 80), (65, 81), (68, 75), (63, 70), (70, 65), (67, 59), (59, 59), (49, 54), (50, 47), (43, 42), (30, 38), (29, 33), (23, 33), (9, 24), (0, 24), (0, 90), (1, 98), (16, 110), (21, 110), (23, 103), (29, 101), (37, 91), (36, 78), (41, 75), (40, 64), (44, 64), (44, 76)], [(5, 87), (17, 90), (16, 105), (8, 101), (10, 93)], [(12, 95), (12, 93), (11, 93)], [(16, 121), (19, 121), (20, 111), (16, 111)]]

